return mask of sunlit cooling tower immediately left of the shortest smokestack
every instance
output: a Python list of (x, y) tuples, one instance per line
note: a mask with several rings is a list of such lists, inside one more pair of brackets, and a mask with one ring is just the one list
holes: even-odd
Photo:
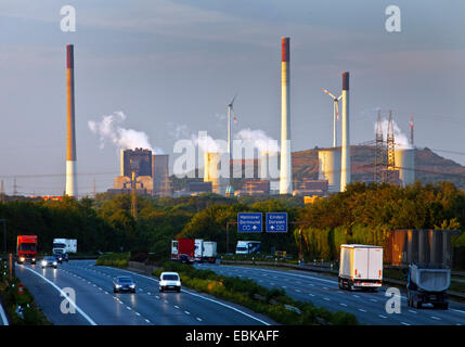
[(330, 193), (340, 192), (340, 147), (318, 152), (318, 179), (327, 180)]

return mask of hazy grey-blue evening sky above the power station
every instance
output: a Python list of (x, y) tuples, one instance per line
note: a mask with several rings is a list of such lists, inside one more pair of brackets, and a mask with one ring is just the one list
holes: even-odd
[[(400, 33), (385, 27), (391, 4)], [(76, 31), (61, 30), (64, 5), (76, 10)], [(465, 165), (464, 15), (462, 0), (2, 0), (0, 179), (8, 194), (14, 178), (18, 193), (63, 194), (68, 43), (80, 195), (118, 175), (121, 139), (95, 131), (104, 117), (170, 154), (171, 170), (178, 140), (227, 138), (235, 93), (234, 132), (279, 140), (282, 37), (293, 151), (332, 145), (333, 103), (321, 89), (339, 95), (347, 70), (352, 144), (374, 140), (377, 110), (392, 110), (406, 137), (413, 113), (415, 145)]]

